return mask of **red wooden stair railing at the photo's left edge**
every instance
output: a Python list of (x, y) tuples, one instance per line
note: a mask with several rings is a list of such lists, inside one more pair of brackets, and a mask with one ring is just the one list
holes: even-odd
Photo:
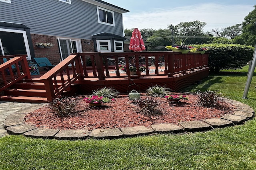
[[(31, 79), (26, 56), (27, 55), (0, 56), (0, 74), (2, 78), (0, 92), (24, 78)], [(6, 62), (4, 62), (3, 59), (6, 59)], [(15, 66), (16, 72), (14, 72), (14, 70), (12, 69), (12, 65)], [(21, 70), (23, 71), (23, 73), (21, 72)]]

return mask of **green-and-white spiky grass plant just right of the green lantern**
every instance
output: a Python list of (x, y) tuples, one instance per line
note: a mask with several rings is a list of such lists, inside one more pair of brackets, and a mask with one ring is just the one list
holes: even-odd
[(163, 98), (164, 96), (169, 94), (170, 91), (171, 91), (171, 89), (170, 88), (166, 88), (166, 86), (161, 87), (161, 86), (158, 86), (158, 85), (154, 85), (152, 87), (149, 87), (146, 90), (146, 93), (149, 96), (162, 97)]

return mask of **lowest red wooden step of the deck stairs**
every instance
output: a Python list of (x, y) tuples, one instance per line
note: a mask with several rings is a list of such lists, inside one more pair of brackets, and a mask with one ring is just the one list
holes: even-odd
[(48, 102), (47, 98), (11, 96), (11, 95), (0, 96), (0, 100), (9, 101), (9, 102), (24, 102), (24, 103), (47, 103)]

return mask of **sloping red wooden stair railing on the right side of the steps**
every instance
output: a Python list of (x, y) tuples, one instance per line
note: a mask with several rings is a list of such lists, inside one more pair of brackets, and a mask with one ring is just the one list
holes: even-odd
[[(71, 65), (71, 67), (69, 67), (69, 65)], [(55, 98), (60, 96), (61, 93), (76, 80), (84, 80), (81, 66), (81, 60), (78, 55), (70, 55), (40, 77), (40, 79), (44, 80), (46, 98), (48, 102), (52, 102)], [(72, 74), (69, 73), (70, 68), (72, 70)], [(67, 79), (64, 79), (63, 71), (66, 72)], [(60, 82), (57, 81), (57, 76), (60, 76)]]

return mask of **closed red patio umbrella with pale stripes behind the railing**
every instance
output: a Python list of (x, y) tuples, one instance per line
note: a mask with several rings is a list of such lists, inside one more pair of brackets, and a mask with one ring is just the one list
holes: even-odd
[(141, 37), (141, 33), (140, 33), (139, 29), (134, 28), (134, 30), (132, 31), (132, 37), (130, 40), (129, 50), (142, 51), (145, 49), (146, 49), (146, 47), (144, 45), (144, 41)]

